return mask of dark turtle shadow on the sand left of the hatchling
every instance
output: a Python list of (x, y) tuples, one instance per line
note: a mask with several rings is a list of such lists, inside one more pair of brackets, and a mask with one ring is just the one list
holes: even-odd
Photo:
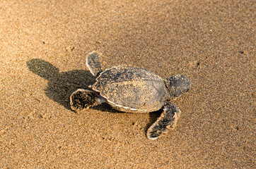
[(59, 72), (59, 68), (40, 58), (27, 61), (28, 69), (48, 80), (45, 94), (52, 100), (71, 110), (69, 96), (76, 89), (89, 89), (88, 85), (95, 82), (95, 77), (88, 70), (71, 70)]

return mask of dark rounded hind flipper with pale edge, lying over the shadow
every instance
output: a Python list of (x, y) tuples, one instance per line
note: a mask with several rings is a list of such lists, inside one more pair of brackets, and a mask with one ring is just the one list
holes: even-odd
[(77, 89), (70, 96), (70, 106), (73, 111), (80, 111), (83, 108), (97, 106), (105, 102), (100, 94), (86, 89)]

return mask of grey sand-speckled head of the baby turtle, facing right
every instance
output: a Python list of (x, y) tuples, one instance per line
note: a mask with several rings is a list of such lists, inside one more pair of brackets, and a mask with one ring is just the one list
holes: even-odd
[(175, 75), (166, 79), (167, 88), (170, 91), (171, 99), (180, 96), (183, 92), (191, 89), (192, 82), (184, 75)]

